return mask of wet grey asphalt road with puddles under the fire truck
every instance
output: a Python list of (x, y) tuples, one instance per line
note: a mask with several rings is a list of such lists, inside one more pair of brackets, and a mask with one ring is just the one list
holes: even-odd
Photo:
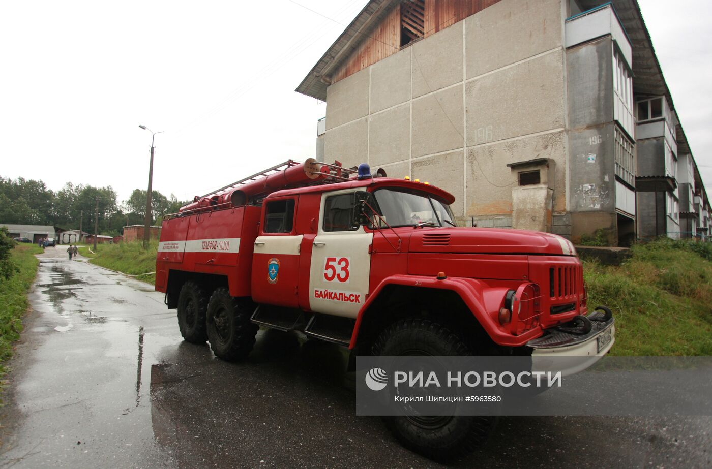
[[(1, 409), (1, 467), (438, 467), (357, 417), (340, 347), (260, 332), (221, 362), (150, 285), (47, 248)], [(471, 468), (712, 467), (712, 418), (506, 417)]]

